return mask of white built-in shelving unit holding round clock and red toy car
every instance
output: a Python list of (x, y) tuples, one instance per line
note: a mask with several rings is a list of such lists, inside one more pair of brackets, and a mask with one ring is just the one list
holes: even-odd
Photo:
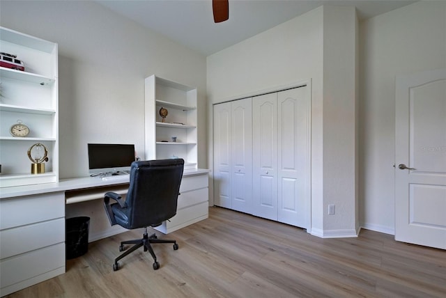
[[(58, 45), (0, 27), (0, 52), (17, 55), (25, 71), (0, 67), (0, 187), (59, 180)], [(21, 121), (26, 137), (11, 136)], [(31, 174), (28, 150), (42, 143), (48, 150), (46, 172)]]

